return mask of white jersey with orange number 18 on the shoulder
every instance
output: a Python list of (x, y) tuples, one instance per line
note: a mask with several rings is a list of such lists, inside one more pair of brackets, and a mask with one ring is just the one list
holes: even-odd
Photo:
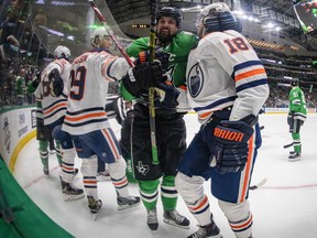
[(188, 57), (189, 104), (205, 123), (232, 106), (230, 120), (258, 115), (269, 97), (265, 69), (245, 37), (236, 31), (205, 35)]

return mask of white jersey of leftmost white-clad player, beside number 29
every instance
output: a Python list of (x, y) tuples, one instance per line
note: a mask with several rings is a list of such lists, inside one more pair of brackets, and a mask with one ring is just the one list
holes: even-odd
[[(54, 68), (57, 68), (64, 83), (64, 90), (59, 97), (51, 95), (48, 74)], [(58, 58), (50, 63), (41, 74), (41, 83), (34, 95), (36, 100), (42, 102), (44, 125), (51, 125), (63, 118), (66, 113), (68, 94), (66, 85), (68, 84), (69, 68), (70, 63), (68, 61)]]

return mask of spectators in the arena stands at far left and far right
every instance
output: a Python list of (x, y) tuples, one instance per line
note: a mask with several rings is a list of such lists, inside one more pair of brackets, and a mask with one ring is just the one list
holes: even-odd
[[(45, 34), (35, 31), (39, 22), (45, 24), (45, 14), (37, 12), (30, 18), (23, 0), (7, 2), (8, 6), (0, 6), (0, 107), (34, 104), (33, 96), (26, 91), (28, 84), (53, 60), (46, 51), (47, 35), (44, 37)], [(265, 67), (271, 89), (265, 107), (288, 107), (292, 77), (299, 79), (307, 107), (316, 107), (317, 69), (313, 66), (314, 58), (286, 56), (265, 48), (255, 47), (255, 51)], [(111, 85), (110, 90), (117, 91), (117, 87)]]

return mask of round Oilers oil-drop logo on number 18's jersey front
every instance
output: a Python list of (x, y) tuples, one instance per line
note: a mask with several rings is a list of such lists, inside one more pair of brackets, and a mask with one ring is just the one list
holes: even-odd
[(203, 85), (204, 85), (204, 74), (199, 66), (199, 63), (196, 63), (190, 68), (187, 79), (188, 91), (193, 98), (197, 97), (200, 94)]

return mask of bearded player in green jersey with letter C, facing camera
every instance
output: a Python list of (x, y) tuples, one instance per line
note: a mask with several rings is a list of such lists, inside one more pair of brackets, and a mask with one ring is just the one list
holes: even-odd
[[(155, 60), (161, 62), (171, 76), (168, 80), (156, 86), (158, 91), (163, 93), (155, 97), (158, 165), (152, 162), (149, 91), (133, 90), (133, 85), (124, 84), (124, 80), (121, 85), (123, 98), (135, 99), (132, 123), (133, 169), (147, 212), (149, 228), (151, 230), (158, 228), (156, 203), (161, 177), (163, 220), (173, 226), (189, 228), (189, 220), (176, 210), (178, 194), (174, 180), (176, 167), (186, 150), (186, 128), (183, 117), (188, 110), (188, 101), (185, 73), (187, 56), (196, 46), (197, 36), (179, 30), (182, 15), (176, 8), (163, 7), (156, 20)], [(139, 57), (140, 62), (149, 61), (149, 41), (150, 37), (135, 40), (128, 47), (127, 53)]]

